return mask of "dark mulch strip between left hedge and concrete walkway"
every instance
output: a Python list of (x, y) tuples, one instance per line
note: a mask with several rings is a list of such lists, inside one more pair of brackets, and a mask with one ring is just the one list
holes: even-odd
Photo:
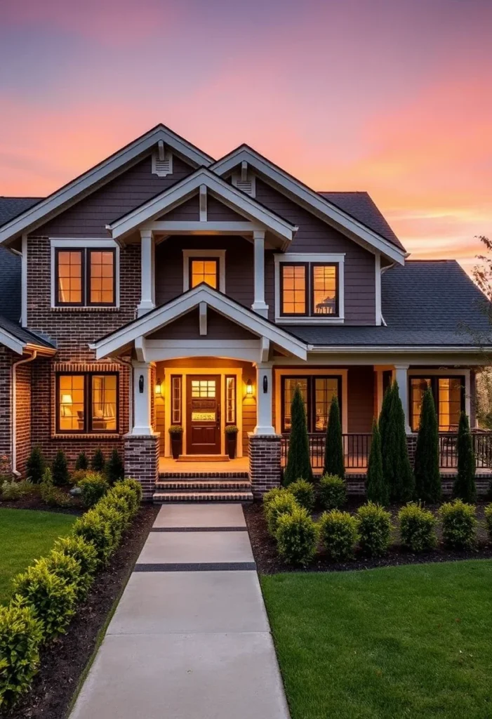
[(42, 651), (41, 671), (24, 702), (10, 713), (0, 712), (0, 716), (9, 719), (65, 718), (73, 692), (96, 646), (98, 633), (126, 585), (158, 510), (152, 505), (141, 507), (110, 564), (96, 577), (90, 595), (78, 608), (67, 633)]

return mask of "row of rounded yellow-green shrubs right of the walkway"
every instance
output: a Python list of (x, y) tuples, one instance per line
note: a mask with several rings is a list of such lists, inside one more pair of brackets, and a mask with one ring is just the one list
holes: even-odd
[[(306, 566), (321, 545), (335, 562), (352, 559), (356, 547), (368, 557), (381, 557), (391, 544), (391, 515), (381, 505), (368, 502), (355, 515), (332, 508), (317, 522), (310, 517), (312, 495), (302, 481), (302, 491), (294, 485), (270, 490), (264, 495), (264, 515), (271, 536), (277, 541), (279, 555), (289, 564)], [(330, 490), (335, 482), (328, 482)], [(292, 488), (294, 491), (292, 491)], [(492, 539), (492, 504), (485, 510)], [(442, 505), (438, 518), (442, 539), (450, 549), (473, 549), (476, 544), (475, 507), (454, 500)], [(432, 512), (416, 503), (404, 506), (398, 515), (402, 546), (413, 552), (430, 551), (437, 544), (437, 521)]]

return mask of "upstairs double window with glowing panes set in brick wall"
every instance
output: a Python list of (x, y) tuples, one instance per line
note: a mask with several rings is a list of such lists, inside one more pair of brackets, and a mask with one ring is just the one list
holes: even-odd
[(56, 249), (55, 305), (114, 306), (115, 249)]

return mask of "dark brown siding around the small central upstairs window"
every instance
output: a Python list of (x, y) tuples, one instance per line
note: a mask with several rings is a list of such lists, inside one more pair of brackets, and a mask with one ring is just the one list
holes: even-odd
[(155, 299), (169, 302), (183, 291), (183, 249), (226, 250), (226, 294), (246, 307), (254, 298), (253, 245), (243, 237), (170, 237), (155, 253)]

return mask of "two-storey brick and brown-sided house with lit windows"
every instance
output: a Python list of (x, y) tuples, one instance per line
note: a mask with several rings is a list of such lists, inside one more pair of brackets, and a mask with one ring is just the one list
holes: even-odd
[(444, 468), (461, 410), (475, 426), (478, 288), (408, 260), (367, 193), (315, 192), (247, 145), (215, 160), (158, 125), (47, 198), (0, 198), (0, 244), (0, 452), (21, 475), (33, 444), (116, 447), (147, 498), (183, 473), (261, 495), (297, 384), (313, 465), (336, 394), (359, 478), (391, 380), (410, 438), (432, 387)]

